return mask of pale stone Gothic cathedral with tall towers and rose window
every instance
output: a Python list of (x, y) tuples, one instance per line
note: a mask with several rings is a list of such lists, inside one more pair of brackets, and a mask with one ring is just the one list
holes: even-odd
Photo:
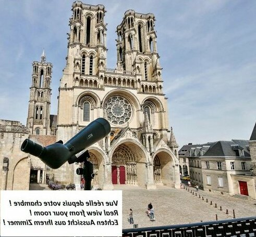
[[(94, 165), (94, 186), (178, 188), (178, 146), (168, 124), (155, 17), (125, 12), (116, 31), (117, 66), (108, 69), (105, 13), (103, 5), (80, 1), (72, 5), (57, 116), (50, 115), (52, 64), (46, 62), (44, 52), (41, 62), (33, 63), (27, 121), (31, 139), (65, 143), (93, 120), (104, 117), (111, 124), (111, 133), (87, 148)], [(31, 158), (32, 166), (36, 159)], [(51, 173), (57, 181), (80, 183), (79, 165), (66, 163), (56, 170), (45, 167), (42, 173)]]

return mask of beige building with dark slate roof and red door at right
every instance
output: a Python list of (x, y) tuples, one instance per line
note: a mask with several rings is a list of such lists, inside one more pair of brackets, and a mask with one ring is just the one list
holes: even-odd
[(180, 149), (179, 156), (189, 159), (193, 185), (211, 192), (256, 199), (251, 144), (253, 141), (248, 140), (190, 144)]

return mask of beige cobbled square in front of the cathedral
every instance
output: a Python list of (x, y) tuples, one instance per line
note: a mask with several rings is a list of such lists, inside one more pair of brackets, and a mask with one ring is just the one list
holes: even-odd
[[(218, 220), (232, 219), (233, 209), (236, 218), (256, 216), (256, 200), (243, 200), (202, 190), (196, 192), (194, 188), (194, 195), (186, 189), (163, 186), (155, 190), (127, 186), (116, 186), (115, 189), (123, 190), (123, 229), (133, 227), (128, 221), (130, 208), (133, 210), (134, 223), (138, 224), (138, 227), (213, 221), (216, 220), (216, 215)], [(150, 202), (155, 210), (155, 221), (151, 221), (146, 214)], [(226, 209), (229, 214), (226, 214)]]

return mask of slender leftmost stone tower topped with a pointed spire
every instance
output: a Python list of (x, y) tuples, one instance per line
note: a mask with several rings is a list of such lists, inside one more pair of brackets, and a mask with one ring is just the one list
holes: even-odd
[(44, 50), (41, 62), (34, 61), (32, 67), (27, 127), (31, 135), (51, 135), (50, 105), (53, 66), (52, 63), (46, 62)]

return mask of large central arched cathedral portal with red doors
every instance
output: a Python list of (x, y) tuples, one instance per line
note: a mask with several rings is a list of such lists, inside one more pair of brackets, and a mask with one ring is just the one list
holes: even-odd
[(121, 143), (112, 156), (113, 185), (145, 184), (145, 155), (133, 142)]

